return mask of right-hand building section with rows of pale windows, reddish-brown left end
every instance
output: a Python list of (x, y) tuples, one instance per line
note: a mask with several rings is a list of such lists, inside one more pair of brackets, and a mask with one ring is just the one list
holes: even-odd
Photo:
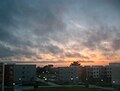
[(110, 66), (84, 66), (82, 67), (82, 82), (111, 84)]

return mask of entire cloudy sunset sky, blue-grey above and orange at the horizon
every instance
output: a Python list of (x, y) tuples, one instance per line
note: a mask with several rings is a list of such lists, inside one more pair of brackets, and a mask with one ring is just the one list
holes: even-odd
[(0, 0), (0, 62), (120, 62), (120, 0)]

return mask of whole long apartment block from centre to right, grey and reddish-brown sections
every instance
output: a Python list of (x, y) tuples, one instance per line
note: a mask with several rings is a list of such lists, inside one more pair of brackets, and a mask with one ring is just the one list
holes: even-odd
[(61, 81), (88, 82), (97, 84), (111, 84), (110, 66), (73, 66), (59, 67), (58, 78)]

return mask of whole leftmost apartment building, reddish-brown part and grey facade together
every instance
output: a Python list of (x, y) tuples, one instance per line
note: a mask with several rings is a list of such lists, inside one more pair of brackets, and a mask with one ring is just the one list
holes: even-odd
[[(0, 64), (0, 84), (2, 84), (2, 64)], [(4, 66), (4, 84), (33, 84), (36, 81), (36, 65), (10, 64)]]

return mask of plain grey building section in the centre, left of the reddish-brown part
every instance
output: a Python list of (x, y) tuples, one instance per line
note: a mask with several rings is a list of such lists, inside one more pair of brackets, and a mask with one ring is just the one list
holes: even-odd
[(68, 81), (68, 82), (76, 83), (80, 80), (80, 77), (81, 77), (80, 66), (58, 68), (58, 79), (61, 81)]

